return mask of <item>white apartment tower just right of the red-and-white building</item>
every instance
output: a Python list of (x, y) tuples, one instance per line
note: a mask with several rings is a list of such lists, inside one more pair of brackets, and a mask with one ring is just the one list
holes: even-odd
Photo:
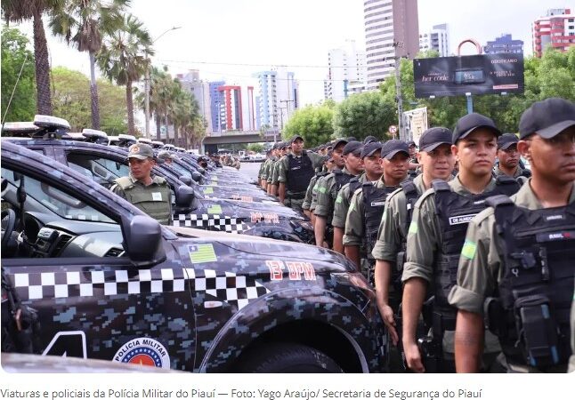
[(256, 126), (282, 129), (299, 108), (299, 84), (294, 73), (285, 68), (275, 68), (257, 72), (255, 77), (258, 85)]

